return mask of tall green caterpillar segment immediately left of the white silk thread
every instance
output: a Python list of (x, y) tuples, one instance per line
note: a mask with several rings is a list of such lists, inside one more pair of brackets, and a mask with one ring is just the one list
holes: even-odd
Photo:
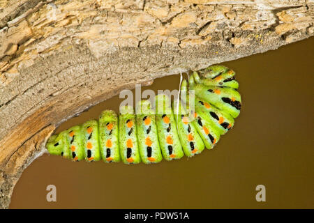
[(156, 124), (161, 152), (165, 160), (177, 160), (184, 156), (177, 132), (170, 98), (156, 95)]

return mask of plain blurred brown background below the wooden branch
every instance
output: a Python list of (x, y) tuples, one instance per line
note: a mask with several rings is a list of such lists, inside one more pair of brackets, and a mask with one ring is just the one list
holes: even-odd
[[(237, 72), (243, 108), (214, 150), (131, 166), (43, 155), (22, 174), (10, 208), (314, 208), (313, 52), (310, 38), (223, 63)], [(142, 90), (178, 87), (179, 75), (172, 75)], [(98, 118), (103, 109), (117, 111), (118, 97), (58, 132)], [(50, 184), (57, 202), (46, 201)], [(266, 202), (255, 200), (260, 184)]]

